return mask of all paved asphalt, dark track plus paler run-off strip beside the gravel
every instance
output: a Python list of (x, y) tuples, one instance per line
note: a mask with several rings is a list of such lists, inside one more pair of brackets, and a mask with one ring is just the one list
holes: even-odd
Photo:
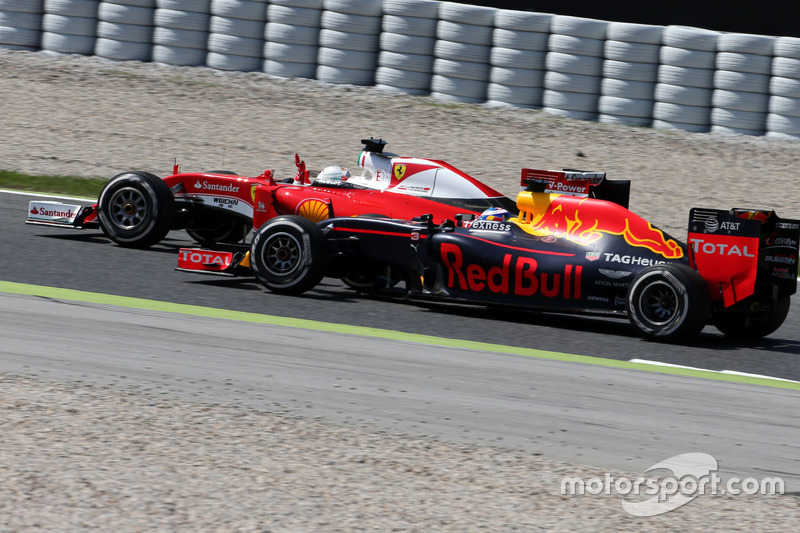
[[(691, 346), (669, 346), (638, 339), (622, 321), (375, 300), (329, 280), (301, 297), (278, 296), (249, 280), (174, 271), (177, 248), (190, 244), (182, 232), (130, 250), (99, 233), (27, 226), (29, 199), (0, 194), (0, 371), (288, 409), (629, 472), (700, 451), (720, 461), (723, 476), (781, 476), (787, 490), (800, 490), (798, 390), (609, 368), (601, 359), (798, 380), (796, 311), (758, 343), (735, 345), (708, 331)], [(57, 289), (4, 294), (11, 284), (3, 282), (112, 298)], [(162, 311), (159, 302), (178, 305)], [(171, 312), (184, 305), (216, 311)], [(265, 315), (309, 322), (287, 328)], [(396, 333), (351, 335), (324, 331), (326, 323)], [(436, 345), (416, 334), (455, 340)]]

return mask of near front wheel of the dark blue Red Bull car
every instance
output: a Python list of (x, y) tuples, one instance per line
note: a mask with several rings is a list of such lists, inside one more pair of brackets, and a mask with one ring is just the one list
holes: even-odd
[(322, 229), (296, 215), (267, 221), (250, 245), (256, 279), (278, 294), (301, 294), (312, 289), (325, 276), (328, 262), (328, 242)]

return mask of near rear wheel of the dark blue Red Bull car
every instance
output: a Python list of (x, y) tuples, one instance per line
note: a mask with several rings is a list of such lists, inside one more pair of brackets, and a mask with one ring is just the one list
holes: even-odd
[(628, 317), (649, 340), (675, 342), (700, 333), (711, 314), (705, 280), (686, 265), (645, 268), (628, 289)]

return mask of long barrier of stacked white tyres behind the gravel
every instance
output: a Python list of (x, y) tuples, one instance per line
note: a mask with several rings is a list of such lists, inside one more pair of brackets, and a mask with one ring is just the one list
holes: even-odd
[(800, 139), (800, 38), (435, 0), (0, 0), (0, 47)]

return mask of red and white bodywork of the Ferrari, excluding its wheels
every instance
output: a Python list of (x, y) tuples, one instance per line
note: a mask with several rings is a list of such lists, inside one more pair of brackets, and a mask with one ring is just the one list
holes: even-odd
[[(355, 183), (358, 178), (351, 179), (355, 184), (349, 187), (347, 182), (339, 186), (316, 185), (305, 163), (295, 157), (298, 173), (293, 180), (276, 182), (271, 170), (256, 177), (221, 172), (180, 173), (176, 165), (173, 174), (163, 181), (172, 190), (179, 209), (202, 205), (229, 211), (234, 216), (252, 220), (254, 228), (277, 215), (301, 215), (319, 222), (333, 216), (371, 214), (411, 219), (430, 213), (438, 223), (458, 214), (479, 214), (489, 207), (490, 204), (482, 203), (486, 201), (493, 202), (491, 205), (505, 202), (513, 206), (513, 202), (498, 191), (443, 161), (395, 157), (391, 159), (388, 185), (378, 189), (359, 186)], [(423, 176), (426, 172), (433, 176), (422, 178), (430, 182), (430, 187), (425, 187), (425, 183), (406, 186), (414, 181), (415, 176)], [(437, 180), (444, 181), (437, 172), (447, 173), (451, 186), (444, 192), (455, 192), (455, 196), (437, 194)], [(97, 205), (93, 208), (84, 223), (97, 222)]]

